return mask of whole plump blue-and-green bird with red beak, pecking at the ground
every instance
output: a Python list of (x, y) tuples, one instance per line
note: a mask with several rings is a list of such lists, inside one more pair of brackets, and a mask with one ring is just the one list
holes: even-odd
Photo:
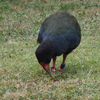
[[(81, 42), (81, 28), (77, 19), (67, 11), (56, 12), (47, 17), (40, 26), (35, 55), (47, 73), (55, 72), (56, 58), (63, 55), (60, 70), (65, 68), (65, 60)], [(49, 67), (51, 60), (53, 66)]]

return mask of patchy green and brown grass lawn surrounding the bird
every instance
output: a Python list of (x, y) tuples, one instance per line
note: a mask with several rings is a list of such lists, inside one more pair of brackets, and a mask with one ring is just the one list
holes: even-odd
[[(99, 0), (0, 1), (0, 99), (100, 100), (99, 9)], [(37, 62), (36, 39), (43, 20), (62, 10), (77, 18), (82, 40), (52, 79)]]

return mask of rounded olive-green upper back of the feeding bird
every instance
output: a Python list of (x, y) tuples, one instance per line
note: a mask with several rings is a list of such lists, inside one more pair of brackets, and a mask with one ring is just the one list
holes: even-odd
[(81, 37), (80, 26), (74, 16), (67, 12), (57, 12), (43, 22), (41, 25), (38, 42), (41, 43), (48, 36), (69, 36), (71, 34)]

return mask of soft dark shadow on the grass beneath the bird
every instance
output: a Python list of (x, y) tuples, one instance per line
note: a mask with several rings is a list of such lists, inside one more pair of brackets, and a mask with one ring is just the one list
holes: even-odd
[[(84, 65), (84, 66), (82, 66)], [(47, 72), (45, 72), (44, 70), (40, 71), (38, 74), (38, 76), (40, 76), (41, 78), (47, 77), (50, 78), (50, 80), (55, 81), (59, 81), (60, 79), (65, 80), (68, 78), (80, 78), (82, 77), (82, 75), (84, 73), (87, 73), (88, 70), (88, 66), (84, 63), (77, 63), (76, 65), (72, 65), (72, 64), (67, 64), (65, 69), (63, 70), (59, 70), (59, 68), (57, 68), (55, 73), (52, 73), (51, 77)]]

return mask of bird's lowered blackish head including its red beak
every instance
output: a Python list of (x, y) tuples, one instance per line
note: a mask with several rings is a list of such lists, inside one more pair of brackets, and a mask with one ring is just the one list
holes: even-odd
[(44, 70), (50, 73), (49, 63), (51, 61), (53, 50), (49, 45), (40, 44), (37, 48), (35, 55), (38, 59), (39, 64), (44, 68)]

